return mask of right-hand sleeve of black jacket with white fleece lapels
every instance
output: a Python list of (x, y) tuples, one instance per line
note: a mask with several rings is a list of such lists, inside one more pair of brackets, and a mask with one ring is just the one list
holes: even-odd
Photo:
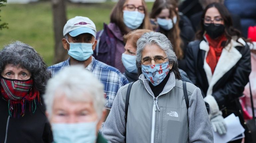
[(219, 107), (224, 105), (225, 101), (232, 101), (235, 98), (242, 96), (244, 86), (249, 81), (249, 75), (251, 72), (251, 56), (249, 46), (246, 45), (241, 49), (242, 57), (236, 65), (236, 69), (232, 75), (232, 79), (229, 80), (223, 88), (220, 88), (212, 93), (212, 96), (216, 99)]

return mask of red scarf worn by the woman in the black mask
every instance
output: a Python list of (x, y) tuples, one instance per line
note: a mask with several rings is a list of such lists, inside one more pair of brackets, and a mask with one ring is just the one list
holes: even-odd
[(223, 49), (222, 43), (227, 41), (227, 38), (225, 35), (221, 35), (216, 39), (212, 39), (208, 34), (205, 34), (205, 37), (209, 43), (209, 51), (206, 56), (206, 62), (210, 66), (213, 74)]

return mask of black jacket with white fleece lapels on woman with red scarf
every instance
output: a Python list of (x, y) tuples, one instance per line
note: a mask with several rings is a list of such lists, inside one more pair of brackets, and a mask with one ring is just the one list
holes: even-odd
[[(251, 62), (249, 46), (241, 38), (238, 41), (240, 43), (231, 40), (223, 48), (213, 75), (205, 60), (209, 50), (206, 40), (196, 40), (188, 45), (186, 64), (190, 80), (201, 89), (203, 97), (207, 99), (208, 96), (213, 96), (218, 104), (216, 107), (220, 110), (225, 107), (223, 117), (234, 113), (241, 119), (238, 97), (242, 96), (244, 86), (249, 81)], [(211, 107), (213, 102), (206, 102)]]

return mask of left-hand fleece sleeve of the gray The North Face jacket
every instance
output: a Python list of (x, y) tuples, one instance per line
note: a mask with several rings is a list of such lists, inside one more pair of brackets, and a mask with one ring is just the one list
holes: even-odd
[[(125, 142), (125, 101), (120, 88), (114, 99), (110, 113), (103, 125), (102, 135), (110, 142)], [(125, 88), (127, 90), (127, 88)]]

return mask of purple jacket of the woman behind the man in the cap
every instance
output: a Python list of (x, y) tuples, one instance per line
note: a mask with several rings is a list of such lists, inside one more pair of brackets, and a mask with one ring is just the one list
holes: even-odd
[(118, 26), (114, 23), (103, 24), (103, 30), (97, 32), (98, 41), (96, 49), (93, 52), (95, 59), (117, 68), (124, 72), (122, 63), (122, 53), (124, 53), (123, 35)]

